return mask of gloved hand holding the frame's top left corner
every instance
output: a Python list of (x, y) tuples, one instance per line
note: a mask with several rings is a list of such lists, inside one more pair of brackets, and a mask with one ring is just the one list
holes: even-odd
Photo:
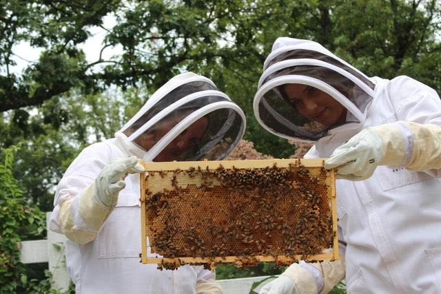
[(119, 191), (124, 189), (124, 179), (127, 174), (136, 174), (145, 171), (138, 163), (136, 156), (115, 158), (110, 160), (100, 172), (94, 182), (94, 198), (103, 207), (113, 209), (118, 200)]

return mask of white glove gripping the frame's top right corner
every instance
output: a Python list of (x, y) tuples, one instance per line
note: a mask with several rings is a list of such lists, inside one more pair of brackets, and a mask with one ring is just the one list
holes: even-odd
[(372, 129), (363, 129), (334, 150), (325, 169), (337, 168), (336, 178), (366, 180), (384, 157), (382, 140)]

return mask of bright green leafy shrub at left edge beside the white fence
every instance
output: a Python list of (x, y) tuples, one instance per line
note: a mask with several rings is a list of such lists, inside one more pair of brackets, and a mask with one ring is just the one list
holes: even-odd
[(25, 196), (12, 176), (14, 152), (18, 147), (2, 149), (0, 164), (0, 293), (14, 293), (32, 284), (19, 261), (19, 242), (43, 237), (45, 214)]

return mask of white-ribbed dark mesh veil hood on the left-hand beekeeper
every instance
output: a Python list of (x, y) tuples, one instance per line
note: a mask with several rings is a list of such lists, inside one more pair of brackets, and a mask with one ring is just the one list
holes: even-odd
[[(208, 126), (202, 138), (192, 145), (192, 150), (174, 158), (178, 161), (222, 160), (227, 156), (245, 132), (245, 114), (214, 83), (191, 72), (175, 76), (157, 90), (139, 112), (116, 133), (141, 149), (140, 158), (145, 162), (154, 158), (176, 136), (201, 118), (207, 118)], [(169, 130), (150, 149), (136, 143), (136, 138), (152, 136), (167, 125)]]

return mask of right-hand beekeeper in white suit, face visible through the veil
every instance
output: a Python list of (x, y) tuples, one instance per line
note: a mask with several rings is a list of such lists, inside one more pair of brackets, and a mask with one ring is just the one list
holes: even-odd
[(276, 39), (260, 125), (337, 168), (340, 259), (292, 264), (260, 293), (441, 293), (441, 101), (408, 76), (369, 78), (307, 40)]

